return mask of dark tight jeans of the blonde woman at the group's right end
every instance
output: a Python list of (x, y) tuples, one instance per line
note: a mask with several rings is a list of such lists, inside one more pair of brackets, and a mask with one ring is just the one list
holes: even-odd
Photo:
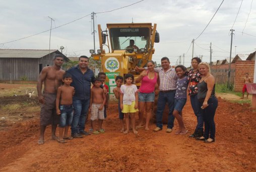
[[(201, 106), (203, 105), (203, 102), (201, 103)], [(205, 133), (204, 137), (206, 139), (210, 138), (215, 140), (215, 122), (214, 122), (214, 116), (216, 109), (218, 107), (218, 100), (214, 96), (208, 100), (208, 107), (202, 110), (203, 119), (205, 122)]]

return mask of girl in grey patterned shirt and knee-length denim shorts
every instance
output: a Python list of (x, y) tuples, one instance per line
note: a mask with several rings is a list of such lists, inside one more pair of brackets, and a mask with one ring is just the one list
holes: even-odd
[(187, 90), (187, 76), (186, 67), (177, 65), (175, 67), (178, 79), (176, 81), (176, 93), (174, 97), (174, 111), (173, 116), (178, 120), (179, 130), (175, 134), (186, 134), (187, 130), (182, 119), (182, 109), (186, 104), (186, 90)]

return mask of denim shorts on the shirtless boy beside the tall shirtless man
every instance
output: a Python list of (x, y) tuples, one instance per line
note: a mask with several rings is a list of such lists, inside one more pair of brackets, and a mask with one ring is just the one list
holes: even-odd
[(59, 105), (59, 110), (60, 110), (59, 127), (70, 126), (73, 120), (73, 106)]

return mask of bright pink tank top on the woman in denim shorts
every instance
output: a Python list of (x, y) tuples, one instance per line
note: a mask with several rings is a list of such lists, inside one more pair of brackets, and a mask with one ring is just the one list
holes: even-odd
[(152, 93), (155, 91), (155, 84), (157, 82), (157, 77), (155, 73), (155, 77), (153, 79), (150, 79), (147, 76), (144, 76), (141, 80), (141, 87), (140, 87), (140, 93)]

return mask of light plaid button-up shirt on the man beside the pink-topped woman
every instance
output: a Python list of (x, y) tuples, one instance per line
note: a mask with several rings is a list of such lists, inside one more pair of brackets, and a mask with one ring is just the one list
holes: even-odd
[(174, 68), (168, 69), (164, 72), (162, 67), (155, 68), (155, 71), (159, 73), (160, 91), (176, 90), (177, 75)]

